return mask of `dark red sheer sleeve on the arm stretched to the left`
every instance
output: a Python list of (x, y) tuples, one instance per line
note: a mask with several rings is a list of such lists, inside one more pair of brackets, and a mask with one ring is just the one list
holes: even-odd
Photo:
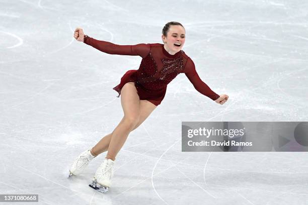
[(108, 54), (115, 55), (133, 55), (141, 56), (144, 58), (150, 51), (148, 44), (136, 44), (136, 45), (117, 45), (107, 41), (99, 41), (85, 35), (84, 43)]

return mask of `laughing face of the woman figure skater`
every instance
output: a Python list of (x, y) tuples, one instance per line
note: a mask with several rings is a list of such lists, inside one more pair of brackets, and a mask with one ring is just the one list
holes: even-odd
[[(172, 25), (169, 28), (167, 36), (162, 35), (165, 49), (170, 54), (175, 54), (182, 50), (185, 43), (185, 29), (180, 25)], [(180, 43), (180, 46), (174, 45)]]

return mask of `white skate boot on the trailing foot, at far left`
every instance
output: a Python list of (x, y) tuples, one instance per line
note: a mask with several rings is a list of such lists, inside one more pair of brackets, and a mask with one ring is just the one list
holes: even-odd
[(72, 163), (69, 169), (68, 177), (72, 175), (78, 175), (84, 171), (84, 169), (88, 166), (89, 162), (95, 158), (90, 152), (90, 149), (81, 153), (75, 161)]

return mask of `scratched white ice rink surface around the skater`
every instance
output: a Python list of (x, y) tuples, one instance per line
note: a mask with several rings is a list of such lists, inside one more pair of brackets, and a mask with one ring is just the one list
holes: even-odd
[[(308, 121), (307, 1), (0, 3), (0, 194), (39, 194), (28, 205), (308, 204), (308, 153), (181, 152), (182, 121)], [(170, 21), (185, 27), (201, 79), (229, 100), (216, 104), (180, 74), (130, 133), (107, 194), (88, 186), (105, 153), (68, 179), (75, 157), (120, 122), (112, 88), (141, 61), (102, 53), (73, 30), (162, 43)]]

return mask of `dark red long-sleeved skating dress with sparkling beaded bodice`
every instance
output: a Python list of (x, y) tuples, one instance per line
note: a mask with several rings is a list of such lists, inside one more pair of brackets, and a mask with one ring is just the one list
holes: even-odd
[(127, 82), (134, 82), (140, 99), (146, 99), (158, 106), (165, 97), (167, 85), (178, 74), (185, 73), (196, 90), (215, 100), (219, 97), (199, 77), (195, 64), (184, 51), (169, 54), (163, 44), (116, 45), (99, 41), (85, 35), (84, 43), (108, 54), (138, 55), (142, 57), (138, 70), (128, 70), (121, 78), (120, 84), (113, 89), (120, 96), (121, 89)]

